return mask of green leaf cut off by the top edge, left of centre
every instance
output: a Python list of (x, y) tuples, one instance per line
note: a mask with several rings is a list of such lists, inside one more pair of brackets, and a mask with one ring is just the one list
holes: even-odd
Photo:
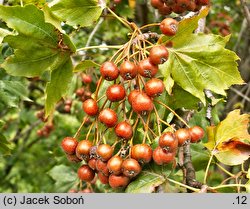
[(51, 12), (61, 21), (72, 26), (91, 26), (101, 15), (105, 5), (98, 0), (54, 0)]

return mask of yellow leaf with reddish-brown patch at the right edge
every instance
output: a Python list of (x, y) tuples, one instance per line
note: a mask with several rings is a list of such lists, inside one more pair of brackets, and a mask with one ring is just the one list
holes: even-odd
[(249, 158), (249, 115), (240, 115), (240, 110), (228, 114), (217, 126), (208, 128), (208, 143), (205, 146), (226, 165), (238, 165)]

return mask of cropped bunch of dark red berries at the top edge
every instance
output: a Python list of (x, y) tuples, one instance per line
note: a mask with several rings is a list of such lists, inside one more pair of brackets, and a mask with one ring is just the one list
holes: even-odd
[(158, 9), (161, 15), (172, 12), (181, 14), (186, 11), (199, 11), (202, 6), (209, 5), (210, 0), (151, 0), (151, 5)]

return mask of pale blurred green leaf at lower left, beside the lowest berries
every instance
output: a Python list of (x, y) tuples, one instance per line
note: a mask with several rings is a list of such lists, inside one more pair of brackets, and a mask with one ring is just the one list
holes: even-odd
[(66, 192), (74, 186), (78, 180), (76, 173), (65, 165), (57, 165), (53, 167), (48, 175), (55, 180), (56, 192)]

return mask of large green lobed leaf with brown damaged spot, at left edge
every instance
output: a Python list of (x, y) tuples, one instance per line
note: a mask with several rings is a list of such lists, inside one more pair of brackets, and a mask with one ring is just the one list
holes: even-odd
[(41, 76), (51, 71), (51, 81), (46, 87), (46, 115), (65, 95), (72, 78), (71, 53), (75, 46), (69, 37), (45, 22), (44, 13), (34, 5), (24, 7), (0, 6), (0, 18), (18, 35), (7, 35), (7, 42), (15, 49), (2, 67), (14, 76)]

